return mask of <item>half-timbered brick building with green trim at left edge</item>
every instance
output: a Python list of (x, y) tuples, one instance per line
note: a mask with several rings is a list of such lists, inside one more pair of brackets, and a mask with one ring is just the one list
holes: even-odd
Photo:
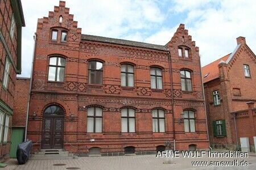
[(9, 157), (16, 74), (21, 72), (20, 1), (0, 1), (0, 161)]

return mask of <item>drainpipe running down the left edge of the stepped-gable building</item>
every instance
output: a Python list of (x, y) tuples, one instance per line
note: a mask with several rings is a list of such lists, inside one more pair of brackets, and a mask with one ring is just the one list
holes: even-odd
[(32, 86), (32, 71), (34, 67), (34, 60), (35, 60), (35, 48), (36, 48), (36, 33), (34, 36), (34, 49), (33, 49), (33, 55), (32, 55), (32, 65), (31, 65), (31, 73), (30, 73), (30, 90), (28, 94), (28, 101), (27, 101), (27, 114), (26, 114), (26, 128), (25, 128), (25, 139), (24, 141), (27, 141), (27, 124), (28, 124), (28, 111), (30, 109), (30, 96), (31, 96), (31, 86)]

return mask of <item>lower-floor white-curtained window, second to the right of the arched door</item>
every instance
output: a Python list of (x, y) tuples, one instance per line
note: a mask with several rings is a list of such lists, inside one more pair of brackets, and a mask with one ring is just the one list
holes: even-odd
[(122, 132), (134, 133), (135, 132), (135, 111), (131, 108), (121, 110), (122, 118)]

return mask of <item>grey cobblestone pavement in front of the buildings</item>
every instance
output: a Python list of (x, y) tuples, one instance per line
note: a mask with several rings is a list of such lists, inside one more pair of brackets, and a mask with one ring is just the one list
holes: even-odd
[[(133, 155), (133, 156), (102, 156), (83, 157), (79, 159), (66, 160), (29, 160), (24, 165), (18, 165), (16, 159), (5, 162), (7, 167), (0, 169), (67, 169), (77, 167), (80, 169), (256, 169), (256, 155), (243, 158), (249, 162), (248, 167), (192, 167), (191, 161), (228, 161), (234, 158), (175, 158), (172, 164), (164, 164), (167, 158), (155, 158), (155, 155)], [(242, 158), (238, 158), (242, 160)], [(239, 162), (238, 161), (238, 162)], [(55, 166), (53, 164), (65, 164)]]

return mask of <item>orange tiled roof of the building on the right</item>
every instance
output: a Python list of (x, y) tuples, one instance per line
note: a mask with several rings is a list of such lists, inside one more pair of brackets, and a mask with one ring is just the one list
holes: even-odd
[(217, 59), (216, 61), (213, 61), (213, 62), (209, 63), (208, 65), (202, 67), (202, 76), (203, 76), (204, 83), (218, 78), (218, 63), (220, 63), (221, 60), (226, 62), (226, 60), (229, 58), (230, 54), (228, 54), (224, 57), (221, 57), (220, 59)]

